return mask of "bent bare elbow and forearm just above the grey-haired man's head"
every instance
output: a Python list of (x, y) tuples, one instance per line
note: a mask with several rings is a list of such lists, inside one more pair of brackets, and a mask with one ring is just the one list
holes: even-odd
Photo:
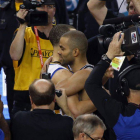
[(68, 107), (72, 112), (74, 118), (82, 114), (92, 113), (96, 110), (96, 107), (91, 100), (79, 101), (78, 94), (69, 96), (67, 101)]

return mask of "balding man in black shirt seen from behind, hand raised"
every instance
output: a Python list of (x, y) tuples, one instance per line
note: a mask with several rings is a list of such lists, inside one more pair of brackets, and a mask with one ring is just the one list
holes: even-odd
[[(20, 111), (13, 119), (12, 134), (14, 140), (73, 140), (73, 119), (55, 114), (55, 99), (65, 114), (72, 116), (67, 105), (67, 96), (55, 94), (54, 84), (50, 80), (35, 80), (29, 87), (33, 111)], [(22, 120), (22, 121), (21, 121)]]

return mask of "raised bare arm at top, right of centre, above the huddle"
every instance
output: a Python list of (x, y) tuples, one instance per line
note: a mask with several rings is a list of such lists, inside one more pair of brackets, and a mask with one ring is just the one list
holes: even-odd
[(103, 24), (107, 14), (107, 7), (105, 4), (105, 1), (100, 0), (89, 0), (87, 3), (88, 9), (99, 25)]

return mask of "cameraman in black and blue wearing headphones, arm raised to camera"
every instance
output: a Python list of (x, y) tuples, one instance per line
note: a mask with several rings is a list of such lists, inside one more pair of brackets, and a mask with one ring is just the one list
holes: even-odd
[[(95, 66), (86, 81), (85, 89), (97, 110), (104, 117), (106, 124), (113, 128), (117, 139), (140, 139), (140, 65), (126, 68), (118, 77), (119, 90), (128, 101), (128, 105), (110, 97), (102, 88), (101, 80), (109, 67), (111, 60), (116, 56), (123, 56), (121, 44), (124, 34), (117, 32), (109, 45), (106, 55)], [(119, 39), (120, 38), (120, 39)]]

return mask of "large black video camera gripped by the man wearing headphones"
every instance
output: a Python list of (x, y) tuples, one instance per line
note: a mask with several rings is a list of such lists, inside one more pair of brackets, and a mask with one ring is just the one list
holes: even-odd
[(140, 25), (129, 27), (132, 22), (122, 24), (106, 24), (99, 28), (100, 35), (98, 36), (99, 50), (101, 53), (106, 53), (110, 42), (116, 32), (122, 31), (124, 33), (124, 40), (121, 49), (127, 55), (140, 55)]

